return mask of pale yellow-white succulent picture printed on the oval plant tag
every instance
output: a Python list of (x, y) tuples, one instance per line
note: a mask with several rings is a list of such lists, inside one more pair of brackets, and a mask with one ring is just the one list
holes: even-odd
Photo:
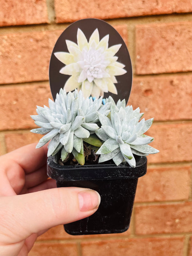
[(109, 35), (100, 40), (96, 29), (89, 41), (81, 29), (77, 31), (77, 44), (66, 40), (69, 52), (55, 52), (54, 55), (64, 66), (61, 74), (70, 77), (65, 83), (65, 90), (81, 90), (84, 97), (99, 98), (104, 92), (117, 94), (115, 76), (125, 74), (124, 64), (117, 61), (115, 54), (121, 47), (116, 44), (108, 48)]

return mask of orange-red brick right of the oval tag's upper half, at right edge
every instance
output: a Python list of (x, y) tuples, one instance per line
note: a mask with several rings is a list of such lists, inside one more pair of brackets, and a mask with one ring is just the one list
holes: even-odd
[(136, 73), (192, 71), (192, 23), (138, 25)]

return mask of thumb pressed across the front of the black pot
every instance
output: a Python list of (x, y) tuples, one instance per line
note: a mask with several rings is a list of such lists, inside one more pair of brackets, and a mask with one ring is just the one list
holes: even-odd
[(92, 215), (99, 204), (98, 192), (79, 187), (0, 197), (0, 241), (20, 242), (33, 233), (83, 219)]

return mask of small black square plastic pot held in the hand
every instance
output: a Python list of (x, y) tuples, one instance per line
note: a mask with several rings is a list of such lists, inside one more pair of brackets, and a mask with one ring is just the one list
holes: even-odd
[(48, 176), (57, 187), (86, 187), (99, 192), (101, 202), (90, 217), (65, 224), (71, 235), (122, 233), (129, 228), (138, 178), (147, 171), (147, 158), (138, 157), (136, 167), (128, 165), (62, 166), (54, 157), (47, 160)]

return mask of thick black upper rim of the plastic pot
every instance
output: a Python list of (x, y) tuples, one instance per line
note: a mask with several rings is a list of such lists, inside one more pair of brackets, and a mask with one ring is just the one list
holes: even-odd
[(48, 157), (47, 174), (57, 181), (139, 178), (147, 172), (145, 156), (136, 161), (135, 168), (128, 164), (59, 165), (54, 160)]

